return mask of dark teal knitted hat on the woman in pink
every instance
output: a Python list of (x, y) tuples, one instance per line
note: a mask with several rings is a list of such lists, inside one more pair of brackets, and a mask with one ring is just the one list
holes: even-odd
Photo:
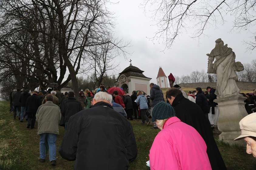
[(155, 122), (155, 119), (164, 120), (169, 117), (175, 116), (175, 111), (173, 107), (165, 102), (159, 102), (155, 105), (152, 111), (152, 122)]

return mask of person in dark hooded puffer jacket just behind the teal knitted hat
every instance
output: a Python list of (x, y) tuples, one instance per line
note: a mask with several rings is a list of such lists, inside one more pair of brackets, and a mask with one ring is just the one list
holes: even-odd
[[(164, 102), (164, 95), (162, 90), (160, 90), (160, 87), (154, 83), (150, 83), (149, 87), (150, 89), (150, 106), (151, 106), (151, 116), (152, 116), (152, 111), (154, 106), (159, 103), (159, 102)], [(154, 128), (157, 129), (158, 127), (156, 126), (155, 122), (154, 123)]]

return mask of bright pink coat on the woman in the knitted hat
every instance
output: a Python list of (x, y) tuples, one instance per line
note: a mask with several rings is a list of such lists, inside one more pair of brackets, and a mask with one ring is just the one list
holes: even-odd
[(192, 126), (169, 118), (149, 152), (151, 170), (211, 170), (206, 144)]

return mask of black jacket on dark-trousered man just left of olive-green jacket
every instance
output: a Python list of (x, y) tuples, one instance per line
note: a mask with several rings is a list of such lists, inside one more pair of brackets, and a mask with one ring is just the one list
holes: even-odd
[(41, 105), (40, 99), (36, 94), (29, 96), (26, 103), (27, 113), (36, 113), (38, 107)]

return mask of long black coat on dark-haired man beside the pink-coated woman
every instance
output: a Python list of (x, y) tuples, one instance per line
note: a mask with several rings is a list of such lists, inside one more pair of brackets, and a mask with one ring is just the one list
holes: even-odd
[(202, 136), (207, 145), (207, 155), (213, 170), (226, 170), (220, 151), (213, 138), (213, 132), (209, 120), (194, 102), (186, 99), (182, 94), (178, 95), (173, 103), (176, 116), (184, 123), (192, 126)]

